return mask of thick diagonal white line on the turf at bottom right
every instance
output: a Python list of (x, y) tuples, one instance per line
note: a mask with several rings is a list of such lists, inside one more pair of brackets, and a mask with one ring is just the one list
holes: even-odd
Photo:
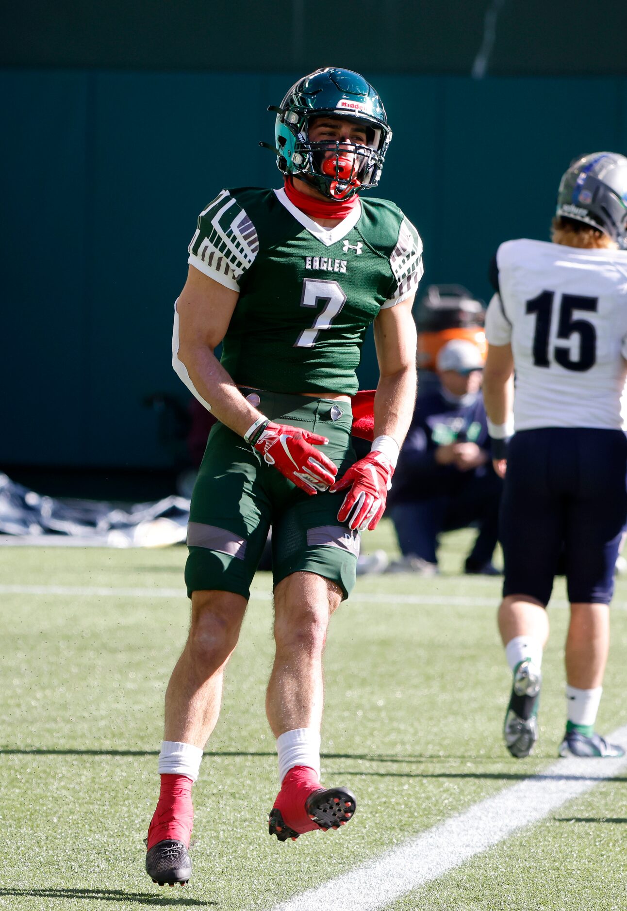
[[(627, 726), (610, 735), (627, 743)], [(375, 860), (309, 889), (272, 911), (311, 911), (337, 906), (338, 896), (350, 896), (351, 911), (385, 908), (413, 889), (432, 882), (470, 857), (509, 838), (523, 826), (538, 823), (600, 780), (613, 778), (627, 767), (620, 759), (561, 759), (543, 773), (532, 775), (494, 797), (474, 804), (423, 834), (392, 848)]]

